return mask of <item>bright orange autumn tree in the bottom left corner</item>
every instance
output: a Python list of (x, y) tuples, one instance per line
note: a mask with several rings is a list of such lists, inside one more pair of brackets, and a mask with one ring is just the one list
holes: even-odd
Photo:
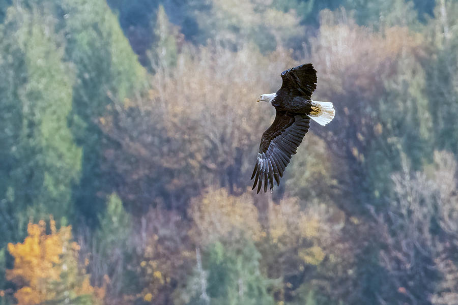
[[(56, 229), (52, 216), (49, 221), (50, 234), (46, 223), (29, 223), (28, 236), (22, 243), (9, 243), (8, 251), (14, 257), (14, 267), (7, 270), (7, 279), (22, 286), (14, 296), (19, 304), (39, 304), (58, 298), (60, 293), (68, 294), (68, 287), (74, 287), (75, 296), (93, 295), (103, 297), (104, 292), (95, 291), (89, 277), (78, 268), (79, 245), (72, 241), (71, 226)], [(56, 287), (64, 287), (60, 291)]]

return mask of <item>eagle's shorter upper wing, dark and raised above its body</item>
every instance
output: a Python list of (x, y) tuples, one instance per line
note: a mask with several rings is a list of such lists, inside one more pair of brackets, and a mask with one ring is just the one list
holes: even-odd
[(281, 73), (283, 83), (280, 90), (285, 90), (291, 95), (311, 99), (313, 91), (317, 88), (317, 71), (312, 64), (297, 66)]

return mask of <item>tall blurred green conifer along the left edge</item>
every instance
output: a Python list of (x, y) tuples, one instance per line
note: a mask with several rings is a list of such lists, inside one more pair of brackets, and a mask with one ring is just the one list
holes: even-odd
[(41, 13), (10, 9), (0, 29), (6, 55), (0, 64), (8, 71), (0, 85), (7, 144), (0, 153), (6, 160), (0, 190), (5, 211), (15, 218), (2, 221), (12, 234), (6, 240), (22, 236), (28, 217), (71, 216), (72, 185), (81, 168), (81, 150), (67, 127), (71, 69), (63, 61), (62, 37), (50, 35), (54, 24)]

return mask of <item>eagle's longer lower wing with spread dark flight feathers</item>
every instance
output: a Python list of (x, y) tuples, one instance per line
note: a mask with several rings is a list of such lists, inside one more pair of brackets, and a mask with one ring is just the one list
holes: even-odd
[(269, 185), (272, 192), (274, 180), (280, 185), (280, 177), (290, 163), (291, 156), (296, 154), (297, 147), (302, 142), (310, 126), (307, 115), (291, 116), (285, 112), (276, 113), (272, 125), (264, 132), (257, 154), (256, 165), (251, 179), (254, 178), (253, 190), (261, 191), (264, 182), (264, 192)]

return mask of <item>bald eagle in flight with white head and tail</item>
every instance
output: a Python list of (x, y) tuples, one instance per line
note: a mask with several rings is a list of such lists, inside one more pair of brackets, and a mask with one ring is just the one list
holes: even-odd
[(276, 93), (263, 94), (257, 102), (267, 102), (275, 107), (276, 115), (272, 125), (264, 132), (257, 153), (251, 179), (252, 190), (257, 192), (264, 185), (264, 192), (272, 192), (274, 180), (280, 185), (285, 167), (307, 133), (310, 118), (325, 126), (334, 118), (334, 106), (329, 102), (311, 99), (317, 88), (317, 71), (312, 64), (297, 66), (281, 73), (283, 80)]

